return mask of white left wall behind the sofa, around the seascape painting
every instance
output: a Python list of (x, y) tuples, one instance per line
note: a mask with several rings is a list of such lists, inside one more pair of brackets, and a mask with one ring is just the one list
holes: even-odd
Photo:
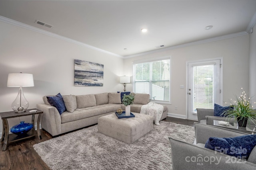
[[(122, 91), (119, 76), (123, 76), (123, 59), (30, 31), (0, 21), (0, 112), (12, 111), (11, 104), (19, 88), (7, 87), (8, 73), (31, 73), (34, 87), (24, 87), (29, 108), (43, 103), (49, 94), (97, 94)], [(100, 40), (99, 40), (100, 41)], [(104, 64), (104, 85), (101, 87), (74, 86), (74, 59)], [(31, 121), (31, 116), (20, 117)], [(19, 123), (8, 119), (9, 127)], [(0, 121), (0, 135), (2, 121)]]

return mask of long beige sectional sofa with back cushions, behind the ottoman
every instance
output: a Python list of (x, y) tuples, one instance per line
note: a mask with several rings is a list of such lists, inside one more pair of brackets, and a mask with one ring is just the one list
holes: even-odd
[[(50, 95), (53, 96), (53, 95)], [(118, 108), (125, 110), (121, 102), (121, 93), (101, 93), (87, 95), (63, 95), (67, 111), (59, 113), (56, 107), (48, 103), (43, 97), (44, 104), (37, 104), (37, 108), (44, 113), (41, 116), (41, 126), (52, 136), (98, 123), (98, 118), (114, 113)], [(149, 94), (136, 94), (131, 112), (140, 113), (143, 105), (148, 104)], [(165, 119), (168, 108), (164, 106), (161, 117)]]

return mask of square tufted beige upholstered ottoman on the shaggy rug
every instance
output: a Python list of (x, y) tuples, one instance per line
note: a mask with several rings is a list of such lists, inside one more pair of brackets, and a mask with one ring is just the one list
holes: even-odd
[(135, 117), (118, 119), (116, 114), (98, 119), (98, 132), (125, 143), (133, 143), (153, 129), (153, 117), (133, 113)]

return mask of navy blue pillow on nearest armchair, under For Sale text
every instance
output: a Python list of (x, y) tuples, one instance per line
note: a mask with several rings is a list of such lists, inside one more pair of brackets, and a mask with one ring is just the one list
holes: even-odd
[(243, 135), (232, 138), (210, 137), (204, 147), (247, 160), (255, 145), (256, 135)]

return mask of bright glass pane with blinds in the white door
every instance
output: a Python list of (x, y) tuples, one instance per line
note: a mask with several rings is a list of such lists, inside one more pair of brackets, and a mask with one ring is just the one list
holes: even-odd
[(193, 66), (193, 112), (214, 109), (214, 64)]

